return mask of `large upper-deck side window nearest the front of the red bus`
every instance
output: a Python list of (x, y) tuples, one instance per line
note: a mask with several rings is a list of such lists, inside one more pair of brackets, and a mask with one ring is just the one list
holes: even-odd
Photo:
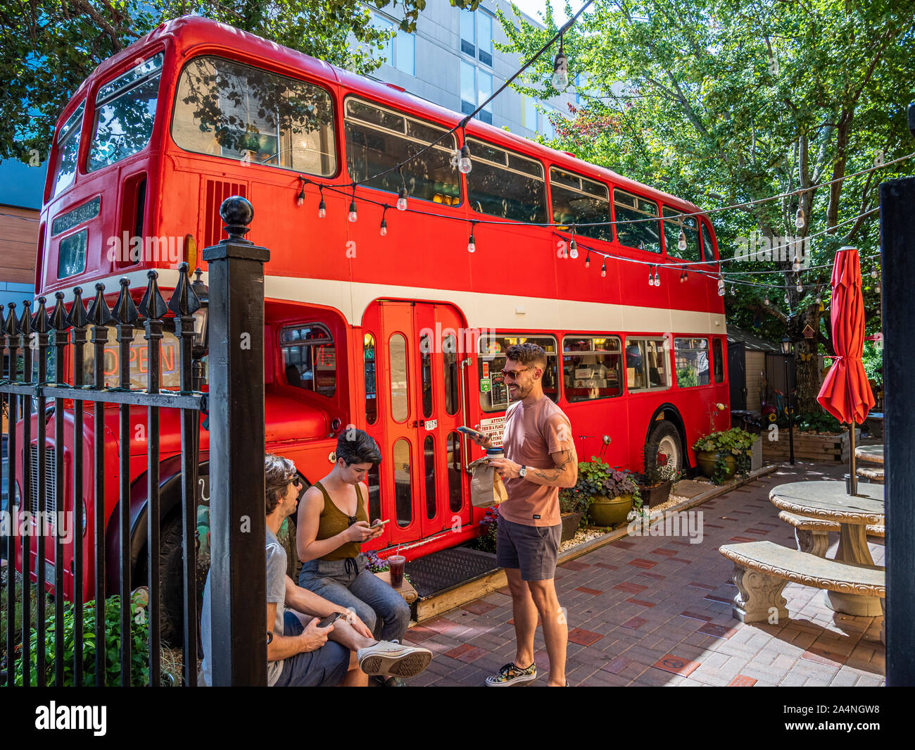
[(172, 138), (198, 154), (331, 177), (334, 107), (320, 86), (217, 57), (181, 71)]

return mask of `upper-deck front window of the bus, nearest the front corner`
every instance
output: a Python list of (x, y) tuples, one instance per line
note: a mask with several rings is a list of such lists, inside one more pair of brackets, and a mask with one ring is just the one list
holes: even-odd
[(159, 52), (99, 89), (87, 171), (108, 167), (149, 143), (164, 57)]

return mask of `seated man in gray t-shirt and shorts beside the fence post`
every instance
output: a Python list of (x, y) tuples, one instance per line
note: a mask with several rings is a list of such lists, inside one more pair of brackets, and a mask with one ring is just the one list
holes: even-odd
[[(376, 641), (355, 613), (303, 589), (286, 575), (286, 553), (276, 538), (286, 516), (296, 512), (301, 484), (288, 459), (267, 455), (267, 684), (271, 686), (365, 686), (369, 675), (412, 677), (432, 660), (427, 648)], [(203, 591), (200, 636), (201, 684), (212, 685), (210, 576)], [(318, 618), (341, 613), (327, 627)]]

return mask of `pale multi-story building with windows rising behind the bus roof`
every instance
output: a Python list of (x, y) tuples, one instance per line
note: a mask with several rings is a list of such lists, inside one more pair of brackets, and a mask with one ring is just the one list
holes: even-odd
[[(400, 18), (386, 13), (396, 10), (393, 5), (382, 10), (370, 7), (376, 27), (397, 28)], [(523, 64), (519, 55), (496, 49), (495, 42), (508, 42), (497, 10), (517, 22), (505, 0), (483, 0), (474, 12), (448, 5), (447, 0), (428, 0), (414, 34), (398, 29), (384, 49), (371, 50), (384, 60), (373, 77), (456, 112), (473, 112)], [(543, 27), (530, 16), (523, 17), (533, 26)], [(552, 60), (554, 50), (546, 54)], [(576, 103), (576, 98), (574, 86), (547, 101), (510, 88), (479, 119), (521, 136), (553, 137), (550, 117), (568, 116), (567, 105)]]

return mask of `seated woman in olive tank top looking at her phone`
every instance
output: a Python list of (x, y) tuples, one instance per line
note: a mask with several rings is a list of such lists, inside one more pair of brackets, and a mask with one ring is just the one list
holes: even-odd
[(312, 484), (298, 505), (296, 550), (302, 560), (298, 585), (354, 610), (375, 637), (401, 643), (410, 607), (398, 592), (365, 567), (362, 542), (382, 535), (381, 519), (369, 524), (366, 477), (382, 460), (378, 444), (361, 429), (337, 440), (337, 462)]

